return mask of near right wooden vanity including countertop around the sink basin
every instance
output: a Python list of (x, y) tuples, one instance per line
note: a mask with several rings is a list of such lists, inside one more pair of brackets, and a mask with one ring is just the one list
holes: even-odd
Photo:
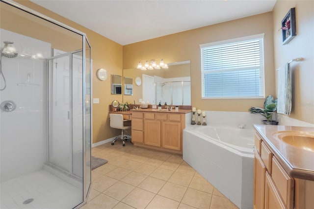
[(314, 153), (281, 141), (276, 131), (314, 128), (256, 125), (254, 209), (311, 209), (314, 205)]

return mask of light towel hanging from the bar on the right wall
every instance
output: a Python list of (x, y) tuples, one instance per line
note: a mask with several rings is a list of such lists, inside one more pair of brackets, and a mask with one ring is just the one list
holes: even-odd
[(278, 69), (277, 113), (290, 115), (291, 112), (291, 72), (289, 63)]

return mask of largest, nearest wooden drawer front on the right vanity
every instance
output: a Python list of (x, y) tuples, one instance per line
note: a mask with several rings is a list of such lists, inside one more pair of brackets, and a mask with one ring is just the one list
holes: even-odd
[(288, 209), (293, 208), (293, 179), (289, 177), (284, 168), (279, 164), (275, 157), (272, 158), (271, 177), (279, 191), (281, 198)]

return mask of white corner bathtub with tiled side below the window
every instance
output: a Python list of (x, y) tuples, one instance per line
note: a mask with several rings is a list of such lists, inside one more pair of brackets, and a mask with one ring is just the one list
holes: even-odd
[(189, 126), (183, 159), (240, 209), (253, 208), (254, 130)]

